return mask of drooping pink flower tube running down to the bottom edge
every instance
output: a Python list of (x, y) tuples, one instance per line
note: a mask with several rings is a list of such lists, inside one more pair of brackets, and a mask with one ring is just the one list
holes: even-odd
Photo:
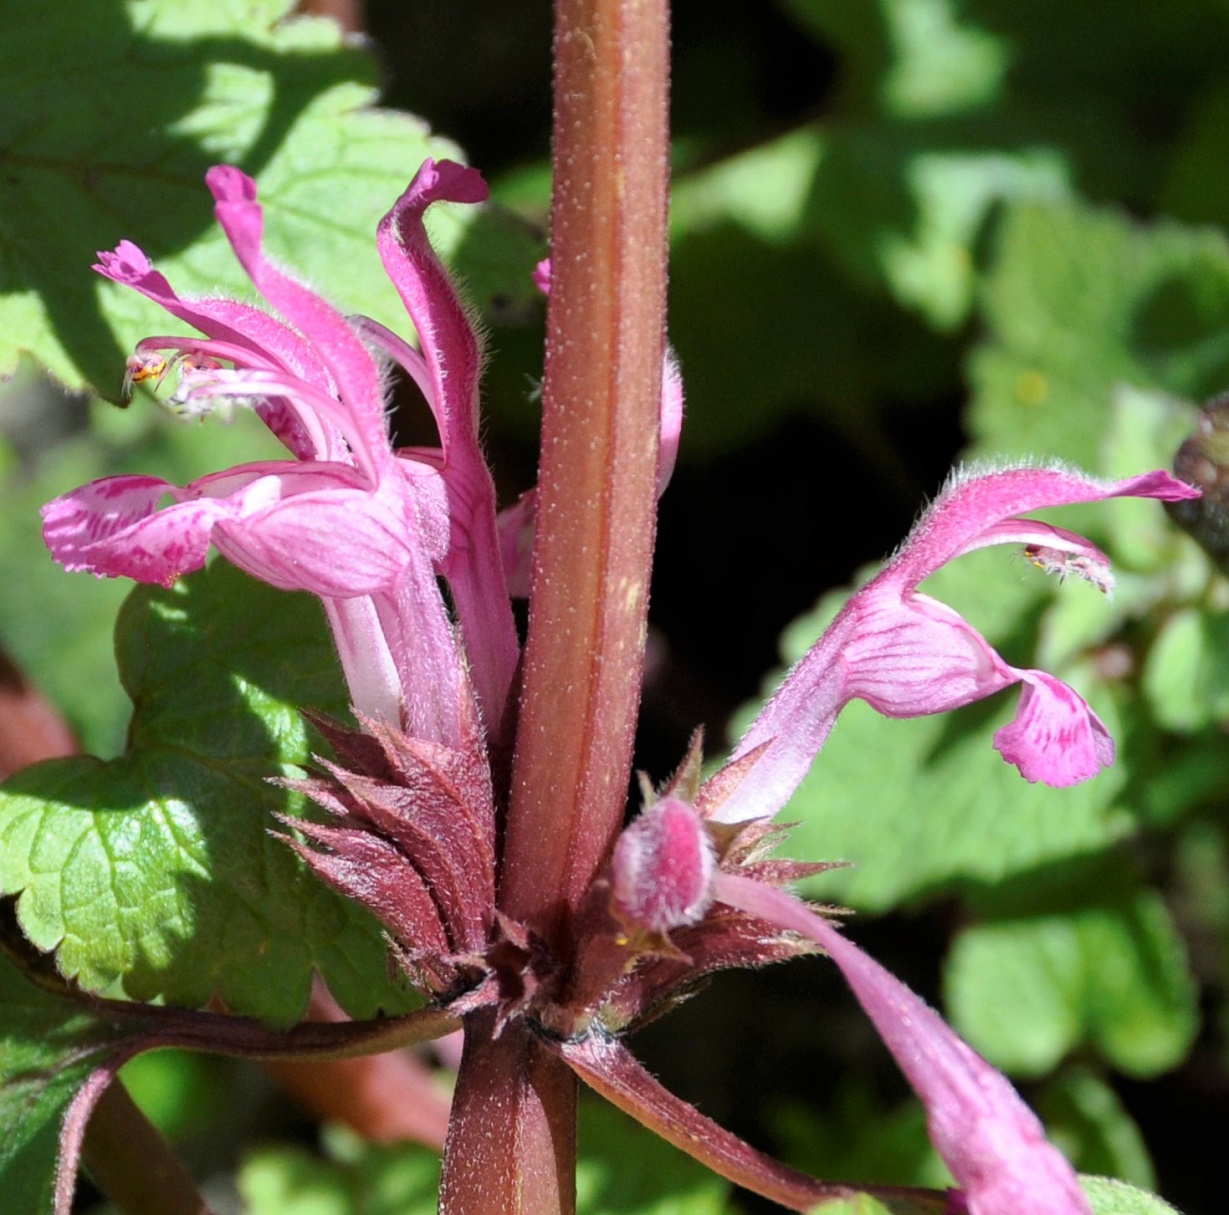
[(972, 1215), (1091, 1215), (1036, 1115), (924, 1000), (784, 891), (720, 873), (717, 898), (819, 942), (927, 1109), (930, 1141)]

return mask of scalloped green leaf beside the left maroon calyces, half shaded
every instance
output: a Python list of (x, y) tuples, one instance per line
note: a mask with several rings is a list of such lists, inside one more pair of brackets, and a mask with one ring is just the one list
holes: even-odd
[(269, 784), (308, 757), (300, 708), (345, 705), (318, 604), (218, 561), (134, 591), (117, 651), (128, 753), (41, 764), (0, 795), (0, 888), (29, 940), (90, 991), (216, 995), (288, 1025), (318, 971), (354, 1016), (403, 1009), (374, 919), (270, 834), (302, 810)]

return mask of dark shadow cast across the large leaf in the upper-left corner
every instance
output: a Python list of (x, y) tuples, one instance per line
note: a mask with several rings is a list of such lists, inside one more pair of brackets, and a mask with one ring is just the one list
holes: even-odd
[[(31, 68), (2, 86), (0, 294), (38, 292), (68, 355), (116, 392), (127, 351), (98, 311), (90, 265), (98, 249), (134, 236), (156, 260), (213, 224), (203, 179), (218, 155), (177, 130), (205, 96), (210, 68), (267, 80), (268, 111), (240, 163), (258, 176), (312, 100), (369, 79), (370, 63), (354, 48), (273, 54), (242, 38), (161, 38), (135, 28), (118, 0), (11, 7), (6, 57), (26, 55)], [(52, 49), (59, 61), (48, 70)], [(235, 114), (236, 124), (251, 120)], [(138, 211), (139, 232), (129, 220)]]

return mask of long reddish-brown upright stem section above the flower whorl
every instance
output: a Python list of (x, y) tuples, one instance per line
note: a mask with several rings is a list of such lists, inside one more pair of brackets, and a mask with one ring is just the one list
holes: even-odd
[(667, 0), (558, 0), (533, 590), (500, 907), (562, 945), (617, 833), (665, 343)]

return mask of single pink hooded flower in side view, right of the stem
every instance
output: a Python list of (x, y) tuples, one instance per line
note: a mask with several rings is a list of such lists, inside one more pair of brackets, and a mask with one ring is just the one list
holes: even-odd
[[(1052, 572), (1074, 572), (1109, 592), (1109, 559), (1091, 542), (1020, 511), (1106, 498), (1176, 501), (1198, 490), (1169, 473), (1102, 482), (1068, 468), (1008, 468), (952, 478), (887, 565), (850, 596), (785, 677), (731, 757), (745, 762), (717, 819), (769, 817), (784, 806), (823, 746), (837, 714), (863, 699), (890, 717), (944, 713), (1024, 686), (1015, 720), (994, 736), (1030, 781), (1074, 785), (1113, 760), (1113, 741), (1072, 688), (1043, 671), (1004, 662), (959, 613), (918, 591), (955, 557), (988, 544), (1025, 545)], [(751, 763), (752, 753), (757, 753)]]

